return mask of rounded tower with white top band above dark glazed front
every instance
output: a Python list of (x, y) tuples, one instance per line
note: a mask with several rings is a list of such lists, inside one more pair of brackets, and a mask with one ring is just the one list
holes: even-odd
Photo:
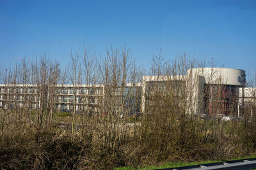
[(244, 70), (206, 67), (189, 69), (188, 74), (191, 73), (204, 77), (204, 113), (237, 115), (239, 88), (246, 82)]

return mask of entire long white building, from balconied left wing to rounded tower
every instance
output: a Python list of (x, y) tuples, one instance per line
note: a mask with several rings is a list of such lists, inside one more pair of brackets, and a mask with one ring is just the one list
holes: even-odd
[[(132, 105), (136, 107), (133, 111), (143, 113), (150, 102), (147, 95), (153, 92), (154, 87), (161, 88), (163, 92), (171, 88), (173, 97), (186, 96), (184, 103), (180, 103), (180, 106), (186, 105), (187, 113), (237, 116), (241, 115), (240, 108), (244, 101), (248, 101), (248, 97), (253, 96), (247, 88), (243, 92), (245, 82), (246, 74), (241, 69), (193, 68), (188, 69), (185, 75), (143, 76), (141, 83), (127, 83), (125, 87), (111, 89), (114, 92), (111, 92), (111, 95), (124, 98), (127, 94), (132, 94), (134, 97), (119, 101), (130, 103), (128, 104), (129, 107)], [(76, 111), (83, 109), (97, 111), (100, 104), (103, 104), (104, 100), (108, 100), (106, 99), (106, 89), (109, 88), (106, 87), (108, 86), (55, 85), (51, 88), (47, 87), (47, 94), (45, 94), (36, 85), (2, 84), (0, 85), (0, 107), (29, 106), (36, 109), (43, 106), (43, 101), (54, 101), (54, 109), (56, 110), (71, 111), (76, 107)], [(42, 100), (45, 97), (46, 99)], [(54, 100), (51, 97), (54, 97)], [(134, 104), (135, 98), (136, 104)]]

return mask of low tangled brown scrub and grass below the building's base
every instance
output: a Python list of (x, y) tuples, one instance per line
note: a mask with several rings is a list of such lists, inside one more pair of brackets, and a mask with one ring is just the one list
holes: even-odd
[(255, 155), (254, 121), (53, 115), (39, 129), (36, 110), (1, 111), (1, 169), (154, 169)]

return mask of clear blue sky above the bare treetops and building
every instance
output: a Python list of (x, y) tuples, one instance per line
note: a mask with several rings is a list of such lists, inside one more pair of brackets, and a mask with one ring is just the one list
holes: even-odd
[(0, 0), (2, 66), (47, 53), (67, 66), (70, 50), (104, 55), (111, 45), (132, 50), (148, 68), (194, 53), (200, 60), (256, 71), (256, 1)]

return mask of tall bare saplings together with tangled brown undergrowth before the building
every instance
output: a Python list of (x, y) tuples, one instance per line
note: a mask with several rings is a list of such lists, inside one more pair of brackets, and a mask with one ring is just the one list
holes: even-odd
[[(195, 82), (184, 84), (177, 77), (204, 63), (186, 55), (164, 62), (160, 55), (145, 73), (125, 47), (108, 50), (104, 59), (96, 59), (95, 53), (84, 49), (82, 57), (72, 53), (68, 69), (61, 70), (58, 62), (45, 57), (35, 62), (24, 59), (3, 69), (4, 84), (15, 88), (33, 84), (35, 96), (40, 98), (19, 94), (27, 97), (20, 105), (20, 98), (11, 100), (4, 94), (9, 107), (0, 113), (1, 169), (113, 169), (255, 155), (256, 121), (249, 110), (248, 114), (244, 110), (243, 118), (225, 122), (200, 118), (200, 108), (192, 109)], [(155, 80), (170, 76), (164, 85), (142, 90), (141, 99), (140, 92), (127, 92), (125, 87), (126, 83), (143, 82), (143, 74), (154, 75)], [(54, 104), (57, 87), (65, 83), (76, 87), (70, 113), (61, 113)], [(97, 107), (92, 108), (90, 98), (81, 96), (84, 106), (77, 112), (76, 97), (80, 96), (76, 90), (83, 83), (103, 85), (104, 98), (97, 98)], [(131, 110), (141, 101), (143, 115), (131, 117)]]

